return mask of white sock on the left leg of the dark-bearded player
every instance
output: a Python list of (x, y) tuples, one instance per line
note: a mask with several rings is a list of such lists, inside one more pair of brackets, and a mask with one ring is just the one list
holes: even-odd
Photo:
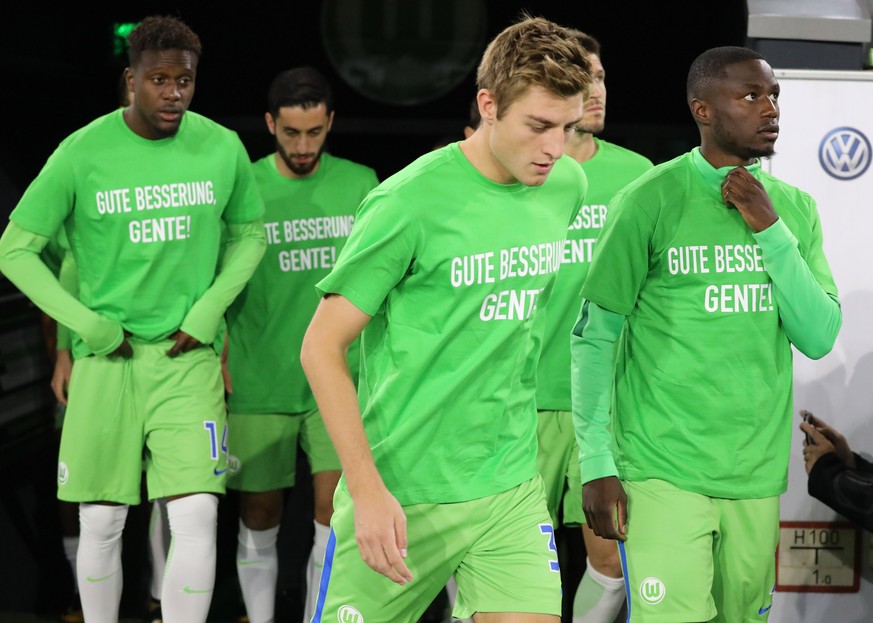
[(240, 519), (236, 548), (236, 572), (250, 623), (272, 623), (276, 606), (279, 526), (250, 530)]

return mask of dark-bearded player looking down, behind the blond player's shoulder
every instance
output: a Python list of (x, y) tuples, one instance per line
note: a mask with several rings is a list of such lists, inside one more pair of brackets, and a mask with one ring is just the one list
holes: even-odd
[[(228, 487), (240, 491), (237, 571), (251, 623), (273, 620), (276, 538), (283, 490), (294, 486), (298, 439), (313, 475), (315, 538), (304, 620), (312, 618), (327, 547), (336, 450), (300, 366), (300, 345), (358, 205), (377, 184), (370, 167), (325, 151), (334, 118), (330, 85), (312, 67), (278, 74), (266, 122), (276, 150), (253, 164), (264, 200), (267, 251), (228, 309)], [(349, 364), (357, 374), (357, 348)], [(264, 371), (268, 370), (269, 374)]]

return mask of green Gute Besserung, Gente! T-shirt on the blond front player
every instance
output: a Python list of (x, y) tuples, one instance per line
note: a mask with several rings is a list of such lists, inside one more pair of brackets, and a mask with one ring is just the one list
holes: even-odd
[(359, 393), (401, 504), (475, 499), (536, 475), (538, 312), (586, 187), (569, 157), (542, 186), (496, 184), (452, 144), (362, 204), (318, 289), (373, 316)]

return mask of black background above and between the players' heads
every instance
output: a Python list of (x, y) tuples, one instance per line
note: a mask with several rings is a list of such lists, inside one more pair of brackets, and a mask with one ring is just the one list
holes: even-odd
[[(367, 10), (391, 1), (362, 0)], [(21, 0), (5, 3), (0, 9), (0, 171), (8, 178), (7, 189), (11, 182), (15, 192), (23, 191), (60, 140), (116, 106), (116, 84), (126, 59), (112, 54), (112, 24), (149, 14), (176, 15), (198, 33), (204, 54), (192, 110), (238, 131), (252, 158), (272, 149), (263, 124), (271, 78), (304, 64), (321, 69), (336, 91), (330, 150), (374, 167), (382, 179), (443, 135), (460, 138), (475, 92), (474, 68), (457, 88), (426, 104), (396, 106), (369, 99), (345, 84), (331, 64), (322, 37), (324, 4), (75, 3), (48, 8)], [(609, 89), (604, 138), (656, 162), (696, 144), (685, 104), (690, 62), (706, 48), (745, 42), (743, 0), (489, 0), (485, 5), (488, 40), (522, 10), (600, 39)], [(15, 192), (4, 195), (14, 197)], [(2, 213), (11, 207), (3, 205)]]

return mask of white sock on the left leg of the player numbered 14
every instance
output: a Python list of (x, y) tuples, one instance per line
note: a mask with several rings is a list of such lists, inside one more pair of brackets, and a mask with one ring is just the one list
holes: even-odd
[(76, 575), (88, 623), (117, 623), (121, 603), (121, 533), (127, 506), (79, 505)]

